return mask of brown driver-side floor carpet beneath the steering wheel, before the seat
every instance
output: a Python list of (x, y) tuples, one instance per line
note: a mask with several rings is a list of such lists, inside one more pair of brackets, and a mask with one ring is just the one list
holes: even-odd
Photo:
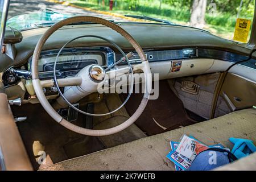
[[(107, 94), (101, 98), (101, 101), (94, 103), (94, 113), (96, 114), (107, 113), (122, 104), (118, 94)], [(81, 110), (86, 110), (85, 102), (84, 105), (80, 105)], [(80, 135), (55, 122), (40, 104), (12, 106), (12, 110), (15, 117), (27, 116), (27, 121), (18, 122), (17, 126), (34, 169), (38, 169), (40, 166), (36, 162), (40, 151), (46, 152), (53, 163), (58, 163), (147, 137), (136, 125), (131, 125), (126, 130), (106, 137)], [(128, 118), (129, 114), (125, 107), (122, 107), (113, 114), (93, 118), (93, 127), (100, 130), (114, 127)], [(77, 121), (72, 123), (84, 127), (85, 116), (79, 114)]]

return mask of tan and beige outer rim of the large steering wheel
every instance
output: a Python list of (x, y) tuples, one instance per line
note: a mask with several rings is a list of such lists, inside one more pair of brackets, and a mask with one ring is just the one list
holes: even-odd
[[(139, 57), (142, 60), (141, 69), (144, 72), (145, 92), (144, 92), (144, 97), (141, 101), (141, 104), (139, 105), (135, 113), (131, 115), (129, 119), (127, 119), (127, 121), (123, 122), (118, 126), (112, 127), (110, 129), (104, 129), (104, 130), (85, 129), (68, 122), (67, 120), (62, 118), (59, 115), (59, 113), (57, 113), (55, 109), (53, 109), (53, 107), (49, 104), (46, 96), (44, 95), (43, 88), (40, 84), (40, 80), (38, 76), (38, 60), (40, 57), (40, 52), (42, 51), (42, 48), (44, 46), (44, 43), (46, 43), (46, 40), (49, 38), (49, 36), (51, 36), (55, 31), (59, 30), (59, 28), (67, 24), (76, 23), (76, 22), (94, 22), (94, 23), (102, 24), (106, 27), (112, 28), (113, 30), (121, 34), (128, 42), (130, 42), (130, 44), (134, 47), (134, 49), (137, 51)], [(99, 137), (99, 136), (115, 134), (115, 133), (118, 133), (119, 131), (126, 129), (127, 127), (132, 125), (138, 119), (138, 117), (142, 114), (143, 110), (147, 105), (148, 98), (151, 92), (152, 77), (151, 77), (150, 65), (147, 61), (146, 55), (144, 54), (141, 46), (139, 46), (136, 40), (128, 32), (123, 30), (123, 28), (119, 27), (117, 24), (114, 24), (112, 22), (109, 22), (108, 20), (94, 17), (94, 16), (73, 16), (71, 18), (61, 20), (60, 22), (50, 27), (39, 39), (38, 44), (36, 44), (36, 48), (32, 57), (31, 71), (32, 71), (32, 84), (34, 86), (36, 96), (38, 97), (38, 100), (40, 101), (44, 109), (47, 111), (47, 113), (51, 115), (51, 117), (56, 122), (59, 122), (61, 125), (63, 125), (67, 129), (83, 135)]]

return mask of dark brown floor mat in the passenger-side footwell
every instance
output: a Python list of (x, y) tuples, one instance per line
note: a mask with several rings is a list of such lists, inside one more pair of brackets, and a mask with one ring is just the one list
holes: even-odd
[[(127, 94), (122, 94), (123, 98)], [(132, 94), (126, 104), (126, 110), (132, 115), (141, 103), (143, 94)], [(159, 97), (157, 100), (149, 100), (146, 109), (137, 119), (135, 124), (147, 135), (155, 135), (166, 130), (177, 129), (182, 126), (194, 124), (189, 119), (182, 102), (172, 92), (166, 80), (159, 81)], [(166, 129), (166, 130), (165, 130)]]

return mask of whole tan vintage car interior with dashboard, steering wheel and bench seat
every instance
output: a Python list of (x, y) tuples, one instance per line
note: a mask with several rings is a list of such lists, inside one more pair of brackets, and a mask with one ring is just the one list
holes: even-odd
[[(230, 137), (256, 142), (255, 31), (254, 19), (239, 44), (199, 28), (94, 16), (7, 27), (1, 169), (175, 170), (166, 155), (183, 134), (229, 148)], [(117, 85), (110, 73), (126, 76), (127, 92), (97, 92)], [(222, 169), (255, 169), (255, 160)]]

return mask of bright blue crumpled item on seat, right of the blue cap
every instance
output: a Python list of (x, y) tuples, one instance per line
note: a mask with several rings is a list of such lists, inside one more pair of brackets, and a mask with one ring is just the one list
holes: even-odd
[(229, 140), (234, 143), (234, 147), (231, 152), (237, 157), (237, 159), (241, 159), (253, 152), (256, 152), (256, 147), (252, 140), (241, 138), (229, 138)]

